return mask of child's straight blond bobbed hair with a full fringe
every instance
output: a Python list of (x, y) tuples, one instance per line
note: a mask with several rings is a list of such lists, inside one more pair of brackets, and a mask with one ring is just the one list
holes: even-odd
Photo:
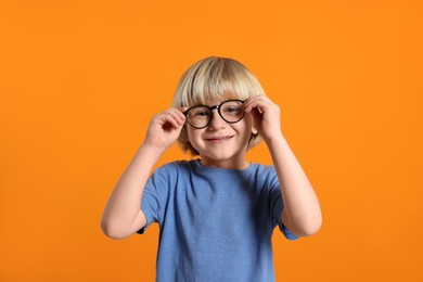
[[(196, 62), (185, 70), (177, 86), (172, 106), (190, 107), (210, 101), (246, 100), (255, 95), (266, 94), (248, 68), (233, 59), (210, 56)], [(260, 140), (258, 133), (252, 133), (247, 150)], [(181, 130), (178, 144), (183, 151), (198, 155), (189, 141), (187, 125)]]

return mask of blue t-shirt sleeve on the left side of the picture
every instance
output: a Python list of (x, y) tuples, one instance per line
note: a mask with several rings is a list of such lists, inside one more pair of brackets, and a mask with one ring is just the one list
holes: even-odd
[(167, 191), (166, 175), (165, 168), (157, 168), (145, 184), (140, 208), (144, 213), (146, 225), (137, 231), (139, 234), (143, 234), (151, 223), (159, 222), (162, 218)]

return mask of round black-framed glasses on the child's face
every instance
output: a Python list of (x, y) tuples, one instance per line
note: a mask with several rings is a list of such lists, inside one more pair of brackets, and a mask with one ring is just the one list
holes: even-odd
[(245, 115), (243, 103), (244, 101), (241, 100), (227, 100), (220, 105), (196, 105), (188, 108), (183, 114), (187, 117), (187, 121), (196, 129), (205, 128), (211, 123), (211, 111), (215, 108), (225, 121), (235, 124)]

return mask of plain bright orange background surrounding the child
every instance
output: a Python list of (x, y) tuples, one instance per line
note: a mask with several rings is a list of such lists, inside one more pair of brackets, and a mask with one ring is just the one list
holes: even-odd
[[(421, 1), (1, 1), (0, 280), (153, 281), (158, 228), (100, 219), (182, 72), (246, 64), (323, 227), (275, 232), (278, 281), (422, 281)], [(175, 145), (159, 164), (188, 155)], [(248, 158), (270, 163), (266, 145)], [(158, 165), (159, 165), (158, 164)]]

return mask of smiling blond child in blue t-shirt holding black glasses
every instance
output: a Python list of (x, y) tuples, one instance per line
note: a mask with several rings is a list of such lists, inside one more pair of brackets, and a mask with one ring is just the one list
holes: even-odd
[[(273, 166), (245, 153), (265, 140)], [(175, 142), (198, 159), (151, 170)], [(114, 189), (104, 233), (161, 227), (157, 281), (274, 281), (275, 226), (294, 240), (321, 226), (317, 196), (285, 141), (280, 108), (241, 63), (207, 57), (182, 76)]]

